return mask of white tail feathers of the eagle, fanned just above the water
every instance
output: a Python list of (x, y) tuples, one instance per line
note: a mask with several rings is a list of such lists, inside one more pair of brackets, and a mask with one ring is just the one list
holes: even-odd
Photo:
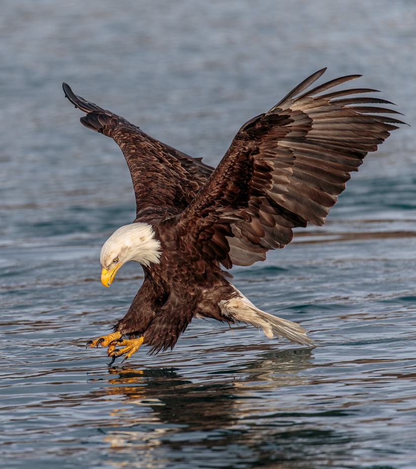
[(273, 339), (274, 336), (284, 337), (297, 344), (313, 345), (313, 341), (305, 334), (306, 329), (303, 329), (299, 324), (256, 308), (241, 292), (237, 289), (236, 291), (238, 296), (229, 300), (222, 300), (218, 304), (224, 316), (232, 317), (246, 324), (252, 324), (255, 327), (261, 327), (269, 339)]

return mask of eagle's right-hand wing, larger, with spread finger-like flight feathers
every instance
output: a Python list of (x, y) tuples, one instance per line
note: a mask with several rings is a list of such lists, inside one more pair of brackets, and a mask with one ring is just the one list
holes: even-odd
[[(321, 95), (359, 77), (331, 80), (298, 96), (326, 69), (294, 88), (266, 114), (247, 122), (190, 206), (180, 215), (184, 240), (225, 267), (251, 265), (282, 248), (292, 228), (322, 225), (368, 152), (377, 150), (403, 122), (368, 106), (392, 104), (353, 97), (356, 88)], [(318, 95), (318, 96), (317, 96)], [(376, 113), (374, 115), (374, 113)]]

